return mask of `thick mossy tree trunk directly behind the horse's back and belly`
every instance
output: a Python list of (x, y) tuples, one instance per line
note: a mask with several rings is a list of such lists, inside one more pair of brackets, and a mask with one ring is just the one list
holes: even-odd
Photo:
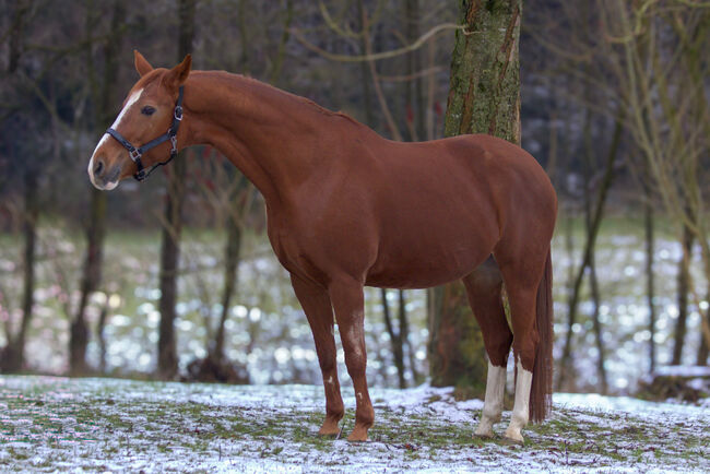
[[(460, 2), (445, 134), (489, 133), (520, 144), (518, 42), (522, 0)], [(438, 287), (429, 315), (431, 384), (481, 395), (486, 379), (483, 337), (460, 282)]]

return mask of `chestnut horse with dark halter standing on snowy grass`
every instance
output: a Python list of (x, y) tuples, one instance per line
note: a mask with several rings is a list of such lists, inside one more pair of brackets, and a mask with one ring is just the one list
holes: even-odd
[(338, 434), (344, 413), (333, 312), (357, 403), (347, 439), (366, 440), (372, 426), (365, 285), (426, 288), (463, 280), (489, 357), (475, 434), (493, 436), (500, 419), (511, 345), (517, 381), (505, 437), (522, 442), (529, 415), (545, 418), (557, 199), (535, 158), (488, 135), (392, 142), (344, 114), (253, 79), (191, 72), (190, 56), (167, 70), (134, 55), (141, 78), (94, 150), (91, 181), (114, 189), (123, 178), (143, 179), (144, 167), (178, 149), (208, 144), (255, 183), (267, 203), (269, 239), (313, 333), (326, 391), (319, 434)]

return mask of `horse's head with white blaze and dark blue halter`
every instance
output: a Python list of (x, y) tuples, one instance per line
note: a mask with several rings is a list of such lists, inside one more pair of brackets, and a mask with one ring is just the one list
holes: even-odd
[(181, 86), (190, 73), (190, 55), (170, 70), (153, 69), (140, 52), (134, 55), (141, 79), (88, 162), (88, 178), (98, 189), (111, 190), (129, 176), (141, 180), (144, 168), (150, 170), (177, 152)]

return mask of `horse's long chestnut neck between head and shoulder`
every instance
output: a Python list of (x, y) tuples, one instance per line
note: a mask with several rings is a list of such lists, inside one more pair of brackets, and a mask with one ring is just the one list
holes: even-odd
[[(321, 127), (317, 106), (258, 81), (222, 72), (193, 72), (186, 91), (189, 144), (210, 144), (227, 156), (267, 199), (276, 203), (317, 166)], [(322, 115), (322, 114), (320, 114)], [(326, 120), (324, 116), (320, 120)]]

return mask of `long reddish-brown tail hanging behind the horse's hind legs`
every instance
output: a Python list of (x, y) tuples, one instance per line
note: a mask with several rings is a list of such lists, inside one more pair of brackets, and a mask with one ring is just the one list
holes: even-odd
[(553, 262), (547, 250), (545, 272), (537, 287), (537, 349), (530, 390), (530, 418), (544, 420), (553, 406)]

